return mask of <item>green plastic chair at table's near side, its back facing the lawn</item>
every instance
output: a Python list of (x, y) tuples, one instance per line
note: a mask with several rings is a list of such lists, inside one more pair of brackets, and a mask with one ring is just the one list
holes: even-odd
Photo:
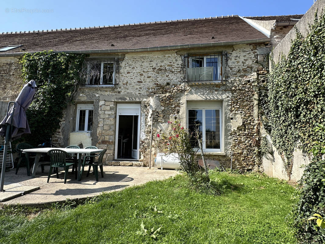
[[(68, 176), (68, 170), (70, 166), (74, 165), (74, 162), (68, 163), (66, 162), (66, 158), (71, 157), (68, 153), (66, 153), (63, 150), (60, 149), (52, 149), (47, 152), (47, 154), (50, 156), (51, 164), (50, 164), (50, 170), (48, 172), (47, 177), (47, 183), (50, 180), (50, 176), (52, 173), (53, 168), (64, 168), (64, 183), (67, 182), (67, 176)], [(75, 170), (75, 177), (77, 179), (77, 170)], [(57, 178), (59, 178), (59, 175), (57, 174)]]

